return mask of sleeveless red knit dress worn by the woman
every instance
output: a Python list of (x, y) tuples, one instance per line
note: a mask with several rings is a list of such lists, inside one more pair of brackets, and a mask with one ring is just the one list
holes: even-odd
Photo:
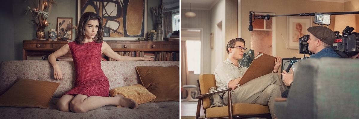
[(109, 95), (109, 82), (101, 69), (102, 43), (93, 41), (83, 45), (76, 42), (69, 43), (76, 70), (76, 80), (75, 87), (65, 94)]

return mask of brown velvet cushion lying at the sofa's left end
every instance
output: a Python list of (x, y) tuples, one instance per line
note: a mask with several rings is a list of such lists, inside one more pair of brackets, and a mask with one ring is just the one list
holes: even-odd
[(18, 79), (0, 96), (0, 106), (48, 108), (59, 84), (50, 81)]

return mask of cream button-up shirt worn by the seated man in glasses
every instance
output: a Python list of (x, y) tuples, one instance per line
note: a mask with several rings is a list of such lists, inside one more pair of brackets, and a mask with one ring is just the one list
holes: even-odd
[[(247, 69), (244, 66), (235, 66), (228, 58), (219, 63), (214, 70), (217, 90), (228, 88), (229, 81), (242, 77)], [(219, 95), (222, 96), (223, 94), (220, 93)]]

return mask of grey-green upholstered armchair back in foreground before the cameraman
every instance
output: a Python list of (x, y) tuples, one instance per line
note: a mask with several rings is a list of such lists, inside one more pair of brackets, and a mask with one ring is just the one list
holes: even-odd
[(306, 59), (286, 101), (277, 101), (278, 119), (359, 119), (359, 60)]

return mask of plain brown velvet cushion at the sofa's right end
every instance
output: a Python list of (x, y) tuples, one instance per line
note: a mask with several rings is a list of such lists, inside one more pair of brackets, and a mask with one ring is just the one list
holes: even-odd
[(180, 69), (178, 66), (137, 66), (142, 84), (157, 98), (151, 102), (180, 101)]

